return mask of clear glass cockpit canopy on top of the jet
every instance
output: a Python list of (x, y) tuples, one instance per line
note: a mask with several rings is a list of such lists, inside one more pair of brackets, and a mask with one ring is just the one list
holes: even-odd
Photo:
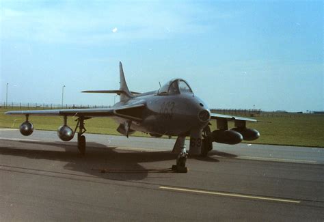
[(159, 89), (158, 95), (193, 94), (191, 87), (183, 79), (172, 79)]

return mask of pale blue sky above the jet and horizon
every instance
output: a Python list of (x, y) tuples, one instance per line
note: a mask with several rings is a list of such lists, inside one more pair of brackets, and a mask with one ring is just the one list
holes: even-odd
[(323, 1), (2, 1), (0, 100), (111, 105), (186, 79), (210, 108), (324, 110)]

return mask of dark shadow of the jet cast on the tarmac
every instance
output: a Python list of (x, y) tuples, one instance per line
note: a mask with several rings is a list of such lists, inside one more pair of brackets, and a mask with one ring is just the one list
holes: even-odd
[[(170, 168), (176, 163), (177, 154), (170, 151), (139, 152), (116, 150), (100, 143), (88, 142), (85, 156), (79, 154), (77, 143), (15, 141), (10, 147), (0, 145), (1, 155), (23, 156), (31, 159), (44, 159), (67, 162), (64, 169), (78, 171), (96, 178), (109, 180), (143, 180), (149, 173), (157, 173), (154, 177), (165, 176), (158, 173), (173, 173)], [(23, 143), (23, 144), (21, 144)], [(46, 146), (44, 148), (44, 145)], [(232, 157), (232, 154), (213, 151), (211, 155)], [(195, 157), (199, 161), (218, 162), (211, 157)], [(146, 169), (139, 163), (169, 161), (170, 166), (162, 169)], [(189, 160), (190, 161), (190, 160)], [(44, 166), (45, 167), (45, 166)], [(104, 170), (105, 174), (102, 173)], [(150, 175), (150, 177), (153, 177)]]

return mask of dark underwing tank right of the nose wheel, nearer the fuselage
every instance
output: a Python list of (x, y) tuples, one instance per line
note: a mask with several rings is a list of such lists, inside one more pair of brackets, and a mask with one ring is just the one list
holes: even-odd
[(216, 143), (237, 144), (241, 143), (243, 136), (234, 130), (215, 130), (212, 133), (213, 141)]

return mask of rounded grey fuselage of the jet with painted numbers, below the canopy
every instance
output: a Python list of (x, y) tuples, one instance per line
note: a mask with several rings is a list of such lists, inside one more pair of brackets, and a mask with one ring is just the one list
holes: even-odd
[[(161, 95), (157, 91), (138, 94), (114, 107), (145, 104), (141, 121), (132, 121), (131, 130), (155, 135), (189, 135), (193, 128), (204, 128), (210, 120), (207, 105), (194, 94)], [(126, 120), (115, 117), (124, 124)]]

